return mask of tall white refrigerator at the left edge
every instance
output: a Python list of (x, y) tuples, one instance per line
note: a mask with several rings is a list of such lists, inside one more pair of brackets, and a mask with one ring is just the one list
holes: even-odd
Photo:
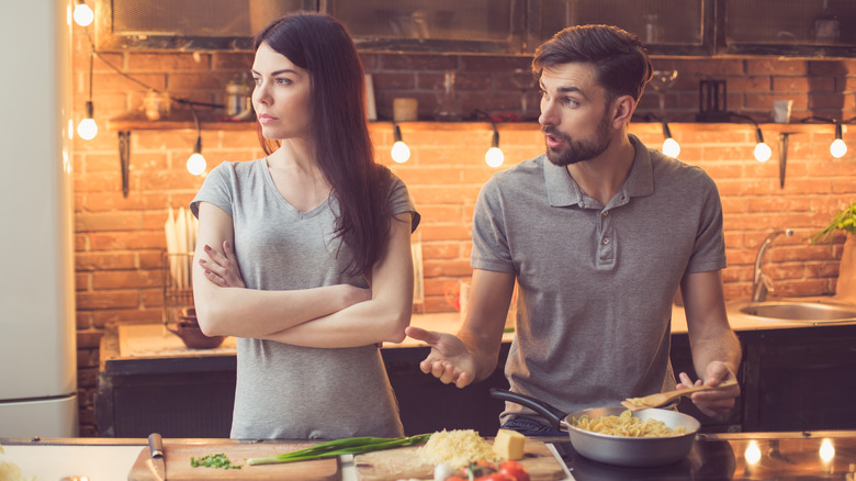
[(72, 5), (0, 15), (0, 437), (78, 434)]

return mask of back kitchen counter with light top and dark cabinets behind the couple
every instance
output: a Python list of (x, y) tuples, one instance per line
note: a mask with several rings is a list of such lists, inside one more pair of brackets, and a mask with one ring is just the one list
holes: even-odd
[[(727, 416), (709, 418), (684, 400), (706, 433), (856, 429), (856, 325), (813, 326), (733, 316), (744, 351), (737, 372), (743, 388)], [(413, 325), (454, 333), (457, 312), (416, 314)], [(675, 372), (692, 372), (686, 317), (673, 307), (671, 360)], [(504, 335), (497, 369), (460, 390), (423, 374), (430, 348), (414, 339), (381, 349), (398, 400), (405, 433), (439, 428), (496, 432), (504, 403), (491, 388), (508, 388), (503, 373), (514, 333)], [(215, 349), (188, 349), (160, 324), (109, 324), (101, 344), (95, 420), (101, 436), (138, 437), (159, 430), (169, 437), (227, 437), (235, 393), (235, 339)], [(849, 414), (847, 414), (849, 413)]]

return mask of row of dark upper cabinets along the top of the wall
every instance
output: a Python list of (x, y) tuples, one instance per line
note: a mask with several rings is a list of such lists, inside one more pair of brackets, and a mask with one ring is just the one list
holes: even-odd
[(637, 33), (655, 56), (856, 56), (849, 0), (95, 0), (100, 51), (250, 51), (284, 12), (339, 19), (361, 52), (523, 55), (568, 25)]

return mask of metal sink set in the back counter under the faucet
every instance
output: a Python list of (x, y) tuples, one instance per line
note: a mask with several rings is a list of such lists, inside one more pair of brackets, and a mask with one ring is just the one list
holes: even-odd
[(813, 324), (856, 322), (856, 305), (827, 300), (736, 301), (729, 313), (739, 313), (758, 321), (807, 322)]

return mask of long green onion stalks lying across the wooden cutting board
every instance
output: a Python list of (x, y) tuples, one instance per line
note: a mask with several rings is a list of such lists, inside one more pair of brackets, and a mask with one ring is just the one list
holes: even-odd
[(361, 455), (363, 452), (419, 445), (428, 441), (429, 437), (431, 437), (430, 434), (419, 434), (409, 437), (349, 437), (320, 443), (309, 448), (285, 452), (283, 455), (250, 458), (247, 459), (247, 465), (274, 465), (333, 458), (341, 455)]

